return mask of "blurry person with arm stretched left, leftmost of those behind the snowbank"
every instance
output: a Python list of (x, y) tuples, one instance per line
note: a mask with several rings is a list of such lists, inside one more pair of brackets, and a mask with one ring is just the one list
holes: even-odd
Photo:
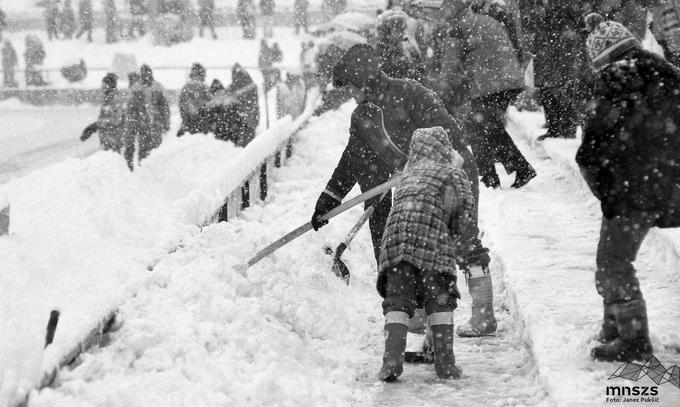
[(99, 132), (102, 149), (120, 153), (123, 150), (125, 135), (125, 100), (118, 91), (118, 76), (108, 73), (102, 79), (104, 102), (99, 110), (97, 121), (83, 130), (81, 141), (87, 140), (93, 133)]

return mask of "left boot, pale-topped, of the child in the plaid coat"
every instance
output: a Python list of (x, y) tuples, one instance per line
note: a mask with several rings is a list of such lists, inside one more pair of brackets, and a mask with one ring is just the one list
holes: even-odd
[(408, 331), (408, 314), (390, 311), (385, 315), (385, 354), (378, 372), (380, 380), (393, 382), (404, 371), (404, 350)]

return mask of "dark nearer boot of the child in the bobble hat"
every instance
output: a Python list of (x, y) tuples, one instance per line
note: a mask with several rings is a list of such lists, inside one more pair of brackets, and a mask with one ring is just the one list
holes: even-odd
[(652, 357), (653, 351), (649, 340), (645, 300), (612, 304), (611, 307), (619, 336), (613, 341), (594, 347), (591, 355), (603, 362), (646, 362)]

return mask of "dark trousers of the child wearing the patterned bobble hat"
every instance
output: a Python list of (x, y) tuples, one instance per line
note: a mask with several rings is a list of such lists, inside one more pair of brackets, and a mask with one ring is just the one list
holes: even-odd
[(602, 217), (595, 287), (606, 304), (642, 299), (633, 262), (657, 218), (655, 212), (641, 211), (612, 219)]

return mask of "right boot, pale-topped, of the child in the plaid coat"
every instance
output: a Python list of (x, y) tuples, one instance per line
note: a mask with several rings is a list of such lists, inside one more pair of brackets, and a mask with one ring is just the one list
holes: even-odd
[(456, 366), (453, 353), (453, 312), (430, 314), (432, 346), (434, 348), (434, 371), (441, 379), (457, 379), (462, 370)]

